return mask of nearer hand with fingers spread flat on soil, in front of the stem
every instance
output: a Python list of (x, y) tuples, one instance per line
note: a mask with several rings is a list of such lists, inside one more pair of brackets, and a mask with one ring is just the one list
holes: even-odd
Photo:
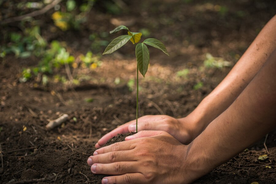
[(140, 131), (125, 140), (96, 150), (87, 160), (92, 173), (114, 175), (102, 184), (192, 181), (185, 167), (187, 146), (167, 132)]

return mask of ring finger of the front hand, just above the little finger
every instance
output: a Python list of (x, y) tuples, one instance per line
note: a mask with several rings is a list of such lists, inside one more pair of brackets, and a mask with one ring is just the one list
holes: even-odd
[(96, 163), (91, 166), (91, 172), (94, 174), (121, 175), (137, 172), (135, 167), (137, 162), (115, 162), (115, 163)]

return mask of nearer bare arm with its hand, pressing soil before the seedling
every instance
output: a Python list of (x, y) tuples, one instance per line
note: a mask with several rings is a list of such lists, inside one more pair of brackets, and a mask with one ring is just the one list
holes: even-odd
[(103, 178), (103, 184), (193, 182), (276, 127), (275, 74), (276, 51), (232, 105), (189, 145), (163, 131), (141, 131), (96, 150), (87, 161), (93, 164), (91, 171), (115, 175)]

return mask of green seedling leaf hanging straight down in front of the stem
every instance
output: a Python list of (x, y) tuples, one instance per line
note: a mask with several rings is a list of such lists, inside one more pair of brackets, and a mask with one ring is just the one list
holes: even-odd
[(143, 75), (143, 77), (145, 77), (145, 74), (148, 71), (148, 64), (149, 64), (148, 47), (143, 43), (139, 43), (137, 44), (135, 51), (136, 51), (138, 69), (140, 73)]

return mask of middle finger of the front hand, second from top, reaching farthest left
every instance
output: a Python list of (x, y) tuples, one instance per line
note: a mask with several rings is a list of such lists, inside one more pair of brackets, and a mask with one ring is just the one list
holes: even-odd
[[(90, 160), (89, 160), (90, 159)], [(132, 151), (111, 151), (99, 155), (90, 156), (87, 160), (88, 165), (94, 163), (114, 163), (122, 161), (133, 161)]]

